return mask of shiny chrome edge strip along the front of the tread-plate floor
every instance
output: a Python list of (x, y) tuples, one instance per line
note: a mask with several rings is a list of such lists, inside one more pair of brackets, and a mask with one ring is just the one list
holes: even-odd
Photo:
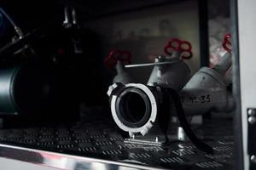
[(46, 167), (55, 167), (61, 169), (96, 169), (96, 170), (126, 170), (126, 169), (147, 169), (158, 170), (165, 168), (147, 167), (135, 163), (108, 161), (86, 156), (72, 156), (51, 151), (35, 150), (14, 146), (9, 144), (0, 144), (0, 157), (25, 161)]

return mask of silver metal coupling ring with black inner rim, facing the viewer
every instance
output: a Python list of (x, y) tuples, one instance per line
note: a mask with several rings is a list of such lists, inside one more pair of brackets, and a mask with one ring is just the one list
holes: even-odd
[[(138, 122), (125, 121), (123, 107), (125, 107), (124, 102), (126, 95), (136, 94), (141, 99), (143, 99), (145, 106), (145, 113), (143, 117), (138, 120)], [(134, 133), (141, 133), (143, 136), (148, 133), (149, 129), (154, 126), (154, 122), (157, 117), (157, 103), (154, 94), (151, 90), (139, 83), (129, 83), (124, 85), (122, 88), (113, 92), (111, 98), (111, 111), (114, 122), (122, 130), (129, 132), (130, 136)]]

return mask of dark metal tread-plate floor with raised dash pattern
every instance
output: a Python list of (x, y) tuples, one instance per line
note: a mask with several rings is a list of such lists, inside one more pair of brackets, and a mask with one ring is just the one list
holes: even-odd
[(190, 142), (173, 141), (165, 147), (125, 144), (118, 128), (109, 122), (79, 123), (70, 127), (0, 130), (2, 144), (91, 156), (113, 161), (137, 162), (175, 169), (234, 169), (230, 119), (212, 119), (195, 129), (214, 150), (213, 155)]

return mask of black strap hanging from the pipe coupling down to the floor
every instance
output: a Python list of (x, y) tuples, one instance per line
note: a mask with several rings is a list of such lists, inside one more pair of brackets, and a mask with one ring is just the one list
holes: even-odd
[(186, 133), (186, 135), (188, 136), (188, 138), (190, 139), (190, 141), (195, 144), (195, 146), (202, 150), (205, 151), (209, 154), (213, 154), (213, 150), (212, 147), (209, 146), (208, 144), (204, 143), (201, 139), (198, 139), (195, 136), (195, 133), (192, 131), (192, 129), (189, 127), (189, 122), (186, 119), (185, 113), (183, 111), (183, 105), (182, 102), (180, 100), (179, 95), (177, 94), (177, 92), (175, 90), (173, 90), (172, 88), (168, 88), (168, 92), (169, 94), (171, 94), (176, 111), (177, 111), (177, 118), (181, 124), (181, 126), (183, 127), (184, 132)]

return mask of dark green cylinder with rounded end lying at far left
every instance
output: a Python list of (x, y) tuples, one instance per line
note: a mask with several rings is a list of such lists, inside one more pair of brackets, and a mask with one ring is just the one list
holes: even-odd
[(37, 114), (55, 98), (55, 74), (47, 66), (0, 69), (0, 115)]

